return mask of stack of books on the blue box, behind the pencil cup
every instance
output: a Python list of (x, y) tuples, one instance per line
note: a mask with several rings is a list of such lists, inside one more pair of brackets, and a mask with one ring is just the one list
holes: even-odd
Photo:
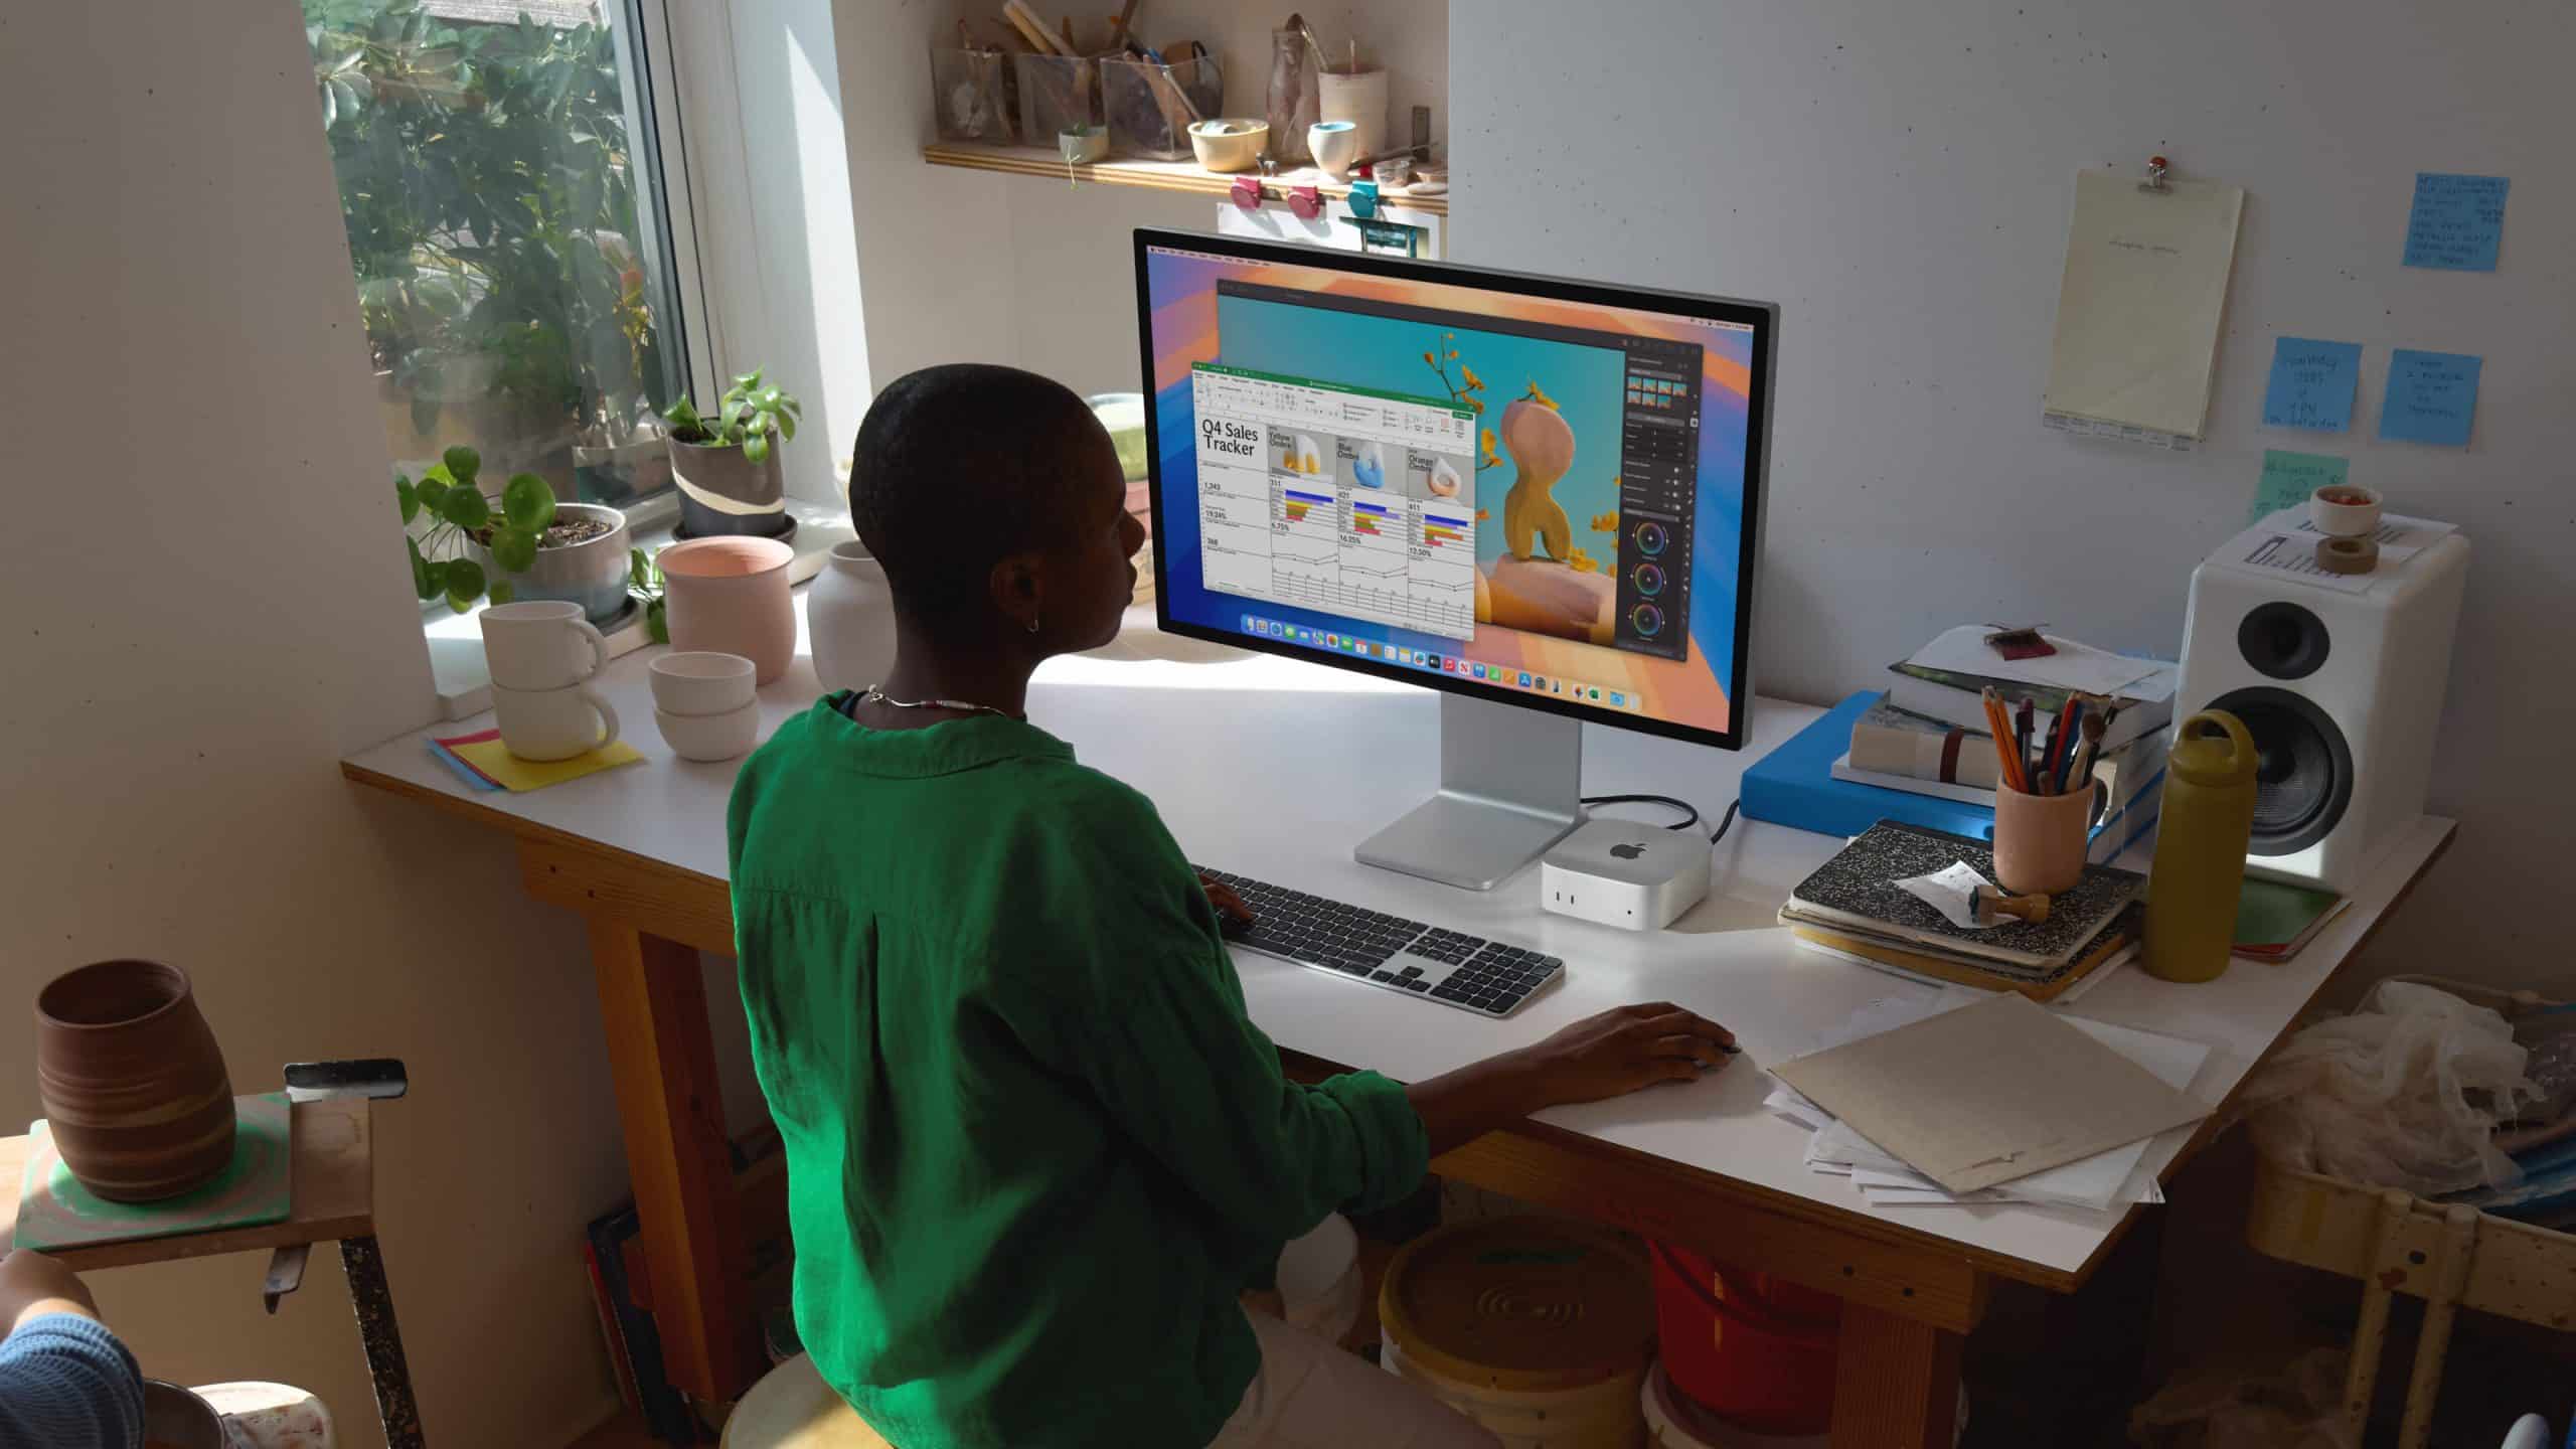
[(2074, 691), (2110, 701), (2094, 781), (2107, 807), (2094, 830), (2094, 861), (2110, 861), (2156, 822), (2164, 797), (2166, 724), (2174, 719), (2174, 665), (2112, 655), (2074, 639), (2048, 639), (2053, 655), (2007, 660), (1986, 645), (1991, 629), (1965, 624), (1914, 657), (1888, 665), (1888, 691), (1852, 724), (1852, 748), (1834, 761), (1839, 781), (1899, 789), (1994, 810), (1996, 750), (1984, 691), (2007, 709), (2032, 701), (2053, 719)]

